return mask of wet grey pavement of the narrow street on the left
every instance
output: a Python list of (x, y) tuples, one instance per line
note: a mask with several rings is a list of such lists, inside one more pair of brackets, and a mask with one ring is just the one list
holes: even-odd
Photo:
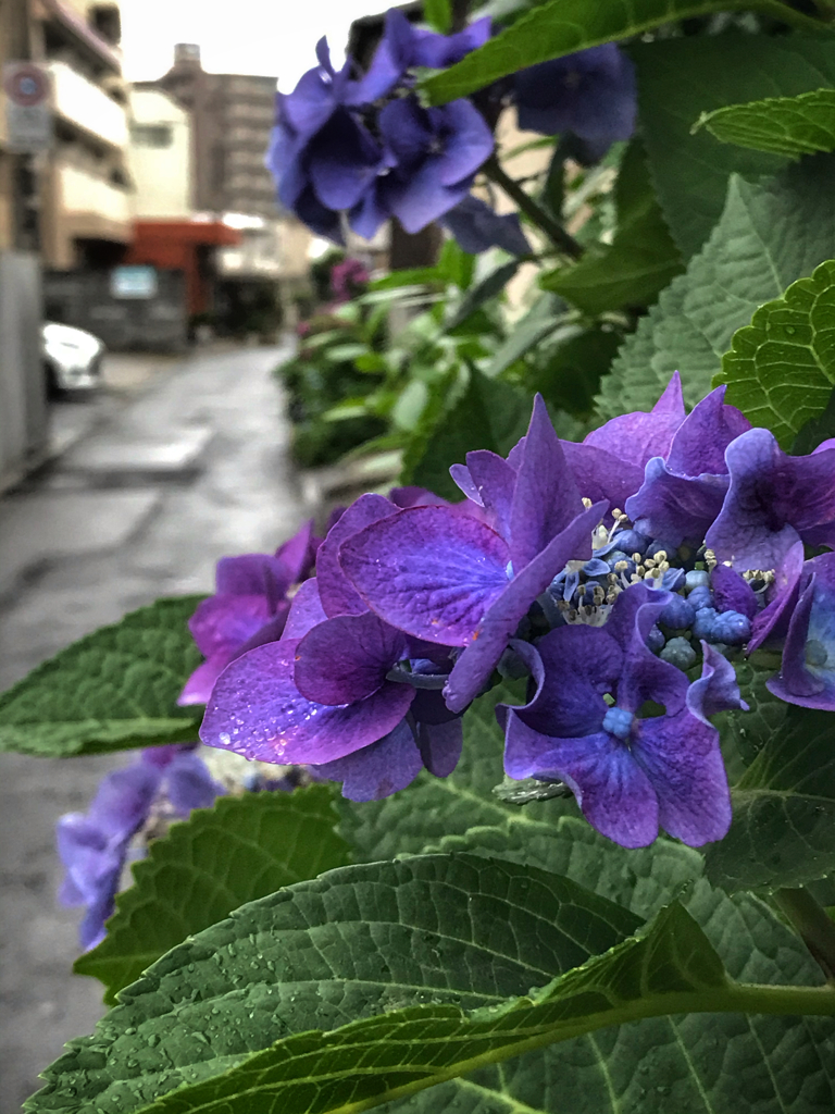
[[(209, 590), (224, 554), (294, 532), (311, 511), (271, 375), (285, 354), (121, 358), (109, 395), (65, 404), (75, 443), (0, 499), (0, 690), (125, 612)], [(0, 755), (0, 1114), (104, 1012), (100, 984), (70, 973), (79, 910), (56, 903), (53, 827), (124, 761)]]

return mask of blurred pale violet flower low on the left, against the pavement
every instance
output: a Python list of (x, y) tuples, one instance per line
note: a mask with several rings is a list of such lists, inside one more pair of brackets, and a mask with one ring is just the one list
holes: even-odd
[(155, 801), (164, 795), (185, 818), (191, 809), (208, 808), (224, 792), (190, 747), (150, 747), (132, 765), (101, 779), (86, 813), (60, 817), (56, 838), (66, 874), (58, 898), (66, 906), (87, 907), (79, 927), (85, 951), (105, 937), (128, 844)]

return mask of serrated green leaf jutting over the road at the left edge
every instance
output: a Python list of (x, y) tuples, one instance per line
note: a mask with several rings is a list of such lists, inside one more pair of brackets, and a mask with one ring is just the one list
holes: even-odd
[(202, 596), (158, 599), (87, 635), (0, 696), (0, 750), (48, 758), (197, 737), (177, 697), (202, 657), (188, 619)]

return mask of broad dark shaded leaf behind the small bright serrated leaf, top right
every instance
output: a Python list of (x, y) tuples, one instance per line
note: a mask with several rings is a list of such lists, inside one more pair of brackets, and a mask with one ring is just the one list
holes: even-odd
[(726, 105), (835, 85), (835, 41), (828, 35), (718, 35), (628, 49), (656, 194), (689, 260), (721, 215), (731, 173), (753, 179), (786, 166), (776, 155), (721, 146), (707, 131), (692, 135), (694, 121)]

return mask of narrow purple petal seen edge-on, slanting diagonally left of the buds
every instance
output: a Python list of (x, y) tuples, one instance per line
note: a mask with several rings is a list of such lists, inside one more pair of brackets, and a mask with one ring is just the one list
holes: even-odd
[(451, 711), (462, 712), (478, 696), (515, 634), (520, 619), (566, 563), (591, 556), (591, 534), (605, 510), (605, 504), (597, 504), (579, 515), (490, 604), (443, 691)]

